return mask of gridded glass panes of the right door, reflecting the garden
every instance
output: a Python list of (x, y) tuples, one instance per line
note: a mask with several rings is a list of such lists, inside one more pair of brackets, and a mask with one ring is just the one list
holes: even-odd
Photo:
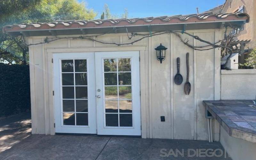
[(104, 59), (103, 63), (105, 124), (132, 127), (131, 58)]

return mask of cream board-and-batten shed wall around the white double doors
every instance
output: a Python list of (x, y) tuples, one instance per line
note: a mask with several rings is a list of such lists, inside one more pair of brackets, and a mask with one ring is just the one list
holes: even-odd
[[(223, 37), (221, 29), (188, 30), (187, 32), (212, 43)], [(77, 37), (80, 35), (76, 35)], [(205, 45), (185, 34), (190, 44)], [(44, 42), (45, 36), (28, 37), (29, 44)], [(48, 36), (48, 38), (54, 38)], [(95, 37), (94, 37), (95, 38)], [(105, 42), (126, 43), (127, 34), (107, 34), (97, 37)], [(167, 47), (166, 59), (156, 60), (160, 43)], [(207, 140), (207, 121), (203, 100), (220, 100), (220, 50), (194, 51), (173, 34), (145, 38), (133, 45), (114, 46), (85, 39), (61, 39), (49, 44), (29, 46), (32, 134), (55, 134), (52, 53), (140, 51), (141, 132), (142, 138)], [(186, 53), (189, 52), (189, 82), (191, 92), (184, 94)], [(176, 58), (180, 57), (181, 85), (174, 84)], [(160, 121), (165, 116), (165, 122)], [(215, 124), (215, 135), (219, 135)]]

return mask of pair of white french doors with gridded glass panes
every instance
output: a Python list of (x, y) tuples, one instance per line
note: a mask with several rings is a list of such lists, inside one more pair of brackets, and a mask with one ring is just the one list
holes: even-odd
[(141, 135), (139, 52), (54, 53), (58, 133)]

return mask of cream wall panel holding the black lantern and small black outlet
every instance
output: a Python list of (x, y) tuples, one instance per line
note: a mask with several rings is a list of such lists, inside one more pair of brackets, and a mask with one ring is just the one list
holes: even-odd
[[(166, 58), (161, 64), (156, 60), (155, 48), (167, 47)], [(151, 37), (151, 79), (152, 79), (152, 128), (153, 138), (171, 138), (171, 65), (170, 34)], [(165, 116), (165, 122), (160, 121)]]

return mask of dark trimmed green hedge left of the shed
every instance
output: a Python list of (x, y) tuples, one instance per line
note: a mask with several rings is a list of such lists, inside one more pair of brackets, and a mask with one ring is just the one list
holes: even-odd
[(29, 110), (29, 66), (0, 63), (0, 116)]

